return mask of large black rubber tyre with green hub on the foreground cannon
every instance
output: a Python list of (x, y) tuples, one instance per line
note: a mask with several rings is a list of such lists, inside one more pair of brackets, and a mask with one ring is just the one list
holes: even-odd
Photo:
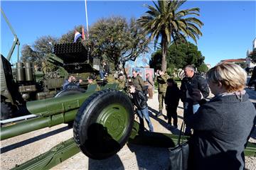
[(134, 108), (127, 95), (107, 89), (82, 103), (74, 120), (74, 139), (92, 159), (106, 159), (127, 142), (134, 123)]

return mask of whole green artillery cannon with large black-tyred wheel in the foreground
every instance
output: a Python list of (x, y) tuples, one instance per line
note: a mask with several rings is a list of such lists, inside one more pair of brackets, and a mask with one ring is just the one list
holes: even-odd
[[(105, 159), (117, 153), (127, 141), (154, 147), (176, 145), (176, 135), (157, 132), (139, 134), (131, 101), (122, 91), (114, 89), (116, 85), (107, 84), (102, 91), (29, 101), (28, 111), (38, 115), (38, 118), (1, 128), (1, 140), (75, 119), (74, 137), (14, 169), (50, 169), (80, 151), (92, 159)], [(255, 154), (256, 145), (249, 142), (245, 155)]]

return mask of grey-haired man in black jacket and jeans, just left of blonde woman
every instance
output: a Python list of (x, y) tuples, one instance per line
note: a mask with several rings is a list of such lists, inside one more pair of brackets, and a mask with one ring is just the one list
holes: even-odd
[[(181, 81), (181, 101), (183, 102), (185, 115), (187, 113), (190, 113), (190, 111), (188, 111), (188, 108), (193, 108), (193, 113), (196, 113), (196, 111), (200, 107), (199, 103), (203, 102), (205, 98), (209, 96), (210, 90), (206, 79), (203, 79), (203, 77), (196, 75), (193, 66), (186, 66), (184, 72), (186, 77), (184, 77)], [(187, 94), (191, 94), (194, 89), (198, 89), (199, 91), (201, 91), (201, 94), (203, 96), (202, 101), (193, 100), (193, 103), (191, 103), (191, 99), (187, 98)], [(190, 106), (191, 104), (193, 104), (193, 106)], [(186, 126), (185, 133), (186, 135), (191, 134), (191, 128), (189, 128), (188, 125)]]

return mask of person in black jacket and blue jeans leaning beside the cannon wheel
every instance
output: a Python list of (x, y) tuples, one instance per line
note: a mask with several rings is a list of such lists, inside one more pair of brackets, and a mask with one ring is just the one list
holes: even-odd
[(146, 104), (146, 96), (142, 93), (142, 91), (136, 90), (134, 84), (129, 83), (128, 85), (129, 94), (132, 95), (132, 103), (137, 108), (137, 113), (139, 115), (139, 131), (144, 131), (144, 120), (146, 119), (146, 123), (149, 125), (149, 131), (153, 132), (153, 125), (151, 120), (149, 119), (149, 109)]

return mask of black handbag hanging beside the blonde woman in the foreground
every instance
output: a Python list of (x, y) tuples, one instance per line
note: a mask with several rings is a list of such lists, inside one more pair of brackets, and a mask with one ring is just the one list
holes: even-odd
[(188, 142), (181, 142), (181, 134), (184, 131), (184, 122), (181, 125), (181, 132), (178, 136), (178, 144), (176, 147), (169, 148), (169, 170), (186, 170), (188, 169)]

